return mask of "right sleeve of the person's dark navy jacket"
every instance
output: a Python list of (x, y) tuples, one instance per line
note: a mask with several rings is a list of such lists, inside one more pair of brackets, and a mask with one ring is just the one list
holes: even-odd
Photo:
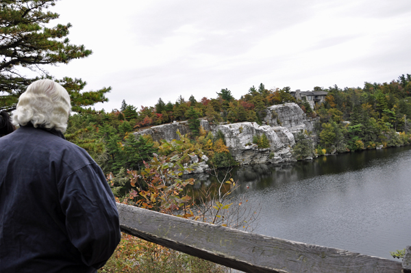
[(75, 170), (58, 190), (71, 243), (83, 263), (101, 268), (121, 239), (116, 202), (101, 168), (94, 163)]

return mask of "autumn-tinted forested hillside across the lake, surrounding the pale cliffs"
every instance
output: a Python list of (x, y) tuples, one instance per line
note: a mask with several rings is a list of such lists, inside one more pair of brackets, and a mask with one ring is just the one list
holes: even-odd
[[(247, 94), (234, 99), (226, 88), (215, 98), (182, 96), (175, 103), (158, 99), (153, 106), (129, 105), (123, 101), (120, 109), (111, 112), (74, 114), (69, 119), (68, 140), (86, 148), (105, 172), (117, 173), (121, 168), (138, 169), (153, 153), (170, 155), (171, 144), (153, 142), (149, 135), (136, 138), (131, 132), (174, 120), (188, 120), (190, 135), (184, 145), (188, 152), (206, 155), (216, 167), (235, 164), (224, 144), (223, 136), (212, 135), (199, 127), (197, 118), (209, 122), (258, 122), (266, 115), (266, 107), (282, 103), (297, 103), (311, 117), (318, 117), (319, 126), (306, 135), (318, 135), (312, 151), (306, 138), (297, 137), (296, 157), (306, 154), (341, 153), (377, 146), (399, 146), (410, 142), (411, 75), (401, 75), (390, 83), (365, 83), (363, 88), (315, 87), (327, 91), (325, 103), (315, 109), (307, 101), (296, 101), (290, 88), (266, 90), (261, 83)], [(256, 140), (258, 141), (258, 140)], [(305, 144), (304, 144), (305, 143)], [(305, 145), (301, 148), (302, 145)], [(308, 146), (307, 146), (308, 145)], [(302, 156), (299, 154), (302, 153)]]

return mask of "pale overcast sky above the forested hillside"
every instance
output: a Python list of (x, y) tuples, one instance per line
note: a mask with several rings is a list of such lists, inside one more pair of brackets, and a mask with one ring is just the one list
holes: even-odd
[[(115, 3), (115, 4), (114, 4)], [(111, 111), (251, 86), (363, 87), (411, 74), (411, 1), (62, 0), (69, 38), (93, 54), (47, 70), (112, 87)], [(53, 21), (57, 23), (57, 21)]]

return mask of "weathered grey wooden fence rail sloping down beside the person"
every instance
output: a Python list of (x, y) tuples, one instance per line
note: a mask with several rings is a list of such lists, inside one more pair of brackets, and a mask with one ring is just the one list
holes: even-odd
[(244, 272), (411, 272), (411, 248), (403, 265), (336, 248), (314, 246), (147, 209), (117, 204), (121, 229), (149, 242)]

